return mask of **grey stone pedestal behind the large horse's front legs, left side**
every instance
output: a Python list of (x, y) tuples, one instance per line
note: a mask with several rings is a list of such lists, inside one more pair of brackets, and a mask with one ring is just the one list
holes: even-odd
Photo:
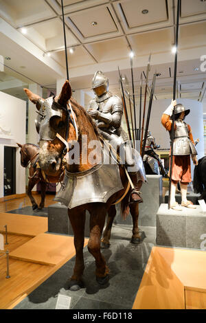
[[(73, 236), (73, 230), (67, 214), (67, 206), (56, 203), (48, 206), (48, 232), (69, 234)], [(89, 237), (89, 213), (86, 212), (84, 236)]]

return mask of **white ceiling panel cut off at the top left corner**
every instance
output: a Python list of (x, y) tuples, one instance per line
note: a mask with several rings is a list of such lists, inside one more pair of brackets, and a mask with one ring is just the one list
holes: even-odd
[(15, 27), (21, 27), (22, 25), (35, 23), (36, 21), (55, 16), (52, 9), (42, 0), (1, 0), (0, 12)]

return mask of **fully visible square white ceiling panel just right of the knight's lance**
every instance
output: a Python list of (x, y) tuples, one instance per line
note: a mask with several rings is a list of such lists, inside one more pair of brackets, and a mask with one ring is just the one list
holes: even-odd
[[(81, 10), (80, 12), (69, 14), (68, 19), (84, 38), (118, 31), (107, 6)], [(95, 23), (95, 25), (92, 25), (92, 23)]]

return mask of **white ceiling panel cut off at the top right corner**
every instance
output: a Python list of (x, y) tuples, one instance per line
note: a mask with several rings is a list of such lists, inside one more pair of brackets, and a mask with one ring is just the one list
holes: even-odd
[(206, 14), (206, 2), (201, 0), (181, 0), (181, 17)]

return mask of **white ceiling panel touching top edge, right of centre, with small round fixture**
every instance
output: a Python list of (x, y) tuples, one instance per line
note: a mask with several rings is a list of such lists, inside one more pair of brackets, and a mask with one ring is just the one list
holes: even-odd
[[(129, 0), (120, 3), (129, 28), (168, 20), (165, 0)], [(148, 10), (148, 14), (142, 14)]]

